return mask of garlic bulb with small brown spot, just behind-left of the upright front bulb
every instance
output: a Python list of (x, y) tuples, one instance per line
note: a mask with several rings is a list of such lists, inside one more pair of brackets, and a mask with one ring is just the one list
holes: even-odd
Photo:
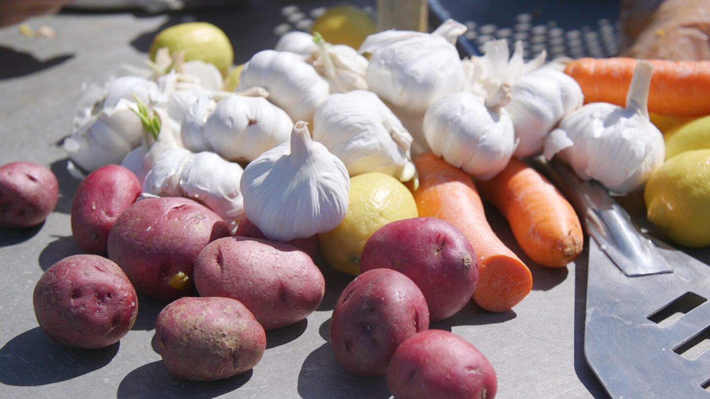
[(232, 94), (217, 102), (204, 138), (226, 160), (251, 161), (290, 138), (293, 121), (263, 97)]

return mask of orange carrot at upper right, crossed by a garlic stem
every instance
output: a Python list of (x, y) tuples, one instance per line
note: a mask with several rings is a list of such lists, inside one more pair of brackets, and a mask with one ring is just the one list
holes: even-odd
[[(648, 111), (674, 116), (710, 114), (710, 61), (649, 60), (653, 77)], [(610, 102), (626, 106), (635, 58), (580, 58), (564, 73), (577, 80), (584, 103)]]

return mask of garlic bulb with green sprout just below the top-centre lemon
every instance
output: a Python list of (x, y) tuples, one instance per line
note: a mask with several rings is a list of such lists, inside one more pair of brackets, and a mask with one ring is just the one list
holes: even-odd
[(318, 50), (307, 61), (330, 84), (330, 92), (367, 90), (367, 58), (349, 45), (331, 45), (319, 33), (314, 36)]

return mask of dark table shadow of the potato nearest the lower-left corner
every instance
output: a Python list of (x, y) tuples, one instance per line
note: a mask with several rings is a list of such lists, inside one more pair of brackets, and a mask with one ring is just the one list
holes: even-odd
[(35, 327), (0, 349), (0, 383), (43, 386), (67, 381), (106, 366), (118, 351), (119, 342), (102, 349), (72, 349)]

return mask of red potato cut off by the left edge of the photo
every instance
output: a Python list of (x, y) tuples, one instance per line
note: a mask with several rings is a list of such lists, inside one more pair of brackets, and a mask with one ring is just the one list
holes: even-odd
[(49, 168), (33, 162), (0, 166), (0, 225), (36, 226), (57, 205), (59, 182)]

